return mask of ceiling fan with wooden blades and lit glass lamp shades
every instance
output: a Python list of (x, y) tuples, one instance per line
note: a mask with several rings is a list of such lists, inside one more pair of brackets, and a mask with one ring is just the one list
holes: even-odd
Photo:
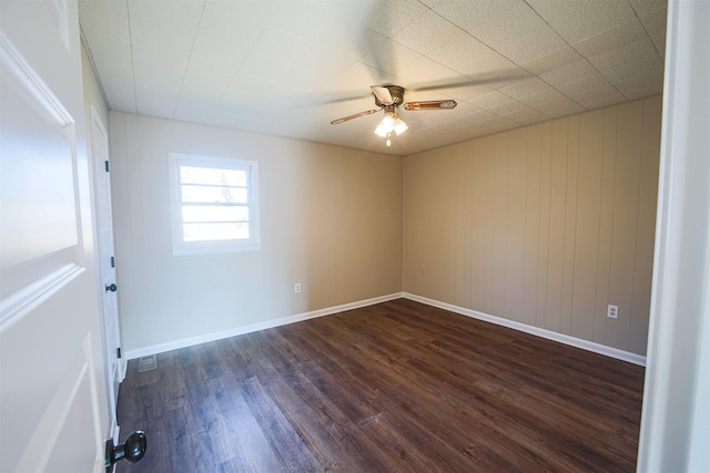
[(375, 105), (379, 109), (368, 110), (366, 112), (355, 113), (353, 115), (344, 116), (331, 122), (333, 125), (337, 125), (348, 120), (357, 119), (359, 116), (372, 115), (381, 110), (385, 111), (385, 117), (379, 122), (379, 125), (375, 128), (375, 134), (387, 138), (387, 146), (392, 145), (390, 136), (392, 132), (396, 135), (404, 133), (407, 130), (406, 123), (399, 117), (397, 109), (402, 107), (407, 111), (417, 110), (450, 110), (456, 106), (456, 101), (453, 100), (434, 100), (427, 102), (407, 102), (404, 103), (404, 88), (399, 85), (371, 85), (369, 88), (375, 96)]

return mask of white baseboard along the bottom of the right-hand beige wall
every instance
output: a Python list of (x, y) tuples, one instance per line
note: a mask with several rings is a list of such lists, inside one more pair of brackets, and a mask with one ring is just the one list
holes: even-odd
[(637, 353), (631, 353), (629, 351), (619, 350), (617, 348), (607, 347), (605, 345), (595, 343), (594, 341), (582, 340), (579, 338), (554, 332), (554, 331), (541, 329), (538, 327), (528, 326), (526, 323), (516, 322), (515, 320), (508, 320), (500, 317), (490, 316), (488, 313), (479, 312), (477, 310), (466, 309), (464, 307), (440, 302), (438, 300), (429, 299), (422, 296), (416, 296), (409, 292), (403, 292), (402, 297), (417, 301), (417, 302), (426, 304), (427, 306), (438, 307), (439, 309), (448, 310), (450, 312), (460, 313), (462, 316), (471, 317), (474, 319), (511, 328), (526, 333), (535, 335), (537, 337), (546, 338), (548, 340), (558, 341), (560, 343), (569, 345), (571, 347), (581, 348), (584, 350), (594, 351), (595, 353), (605, 354), (607, 357), (616, 358), (618, 360), (628, 361), (629, 363), (646, 367), (646, 357)]

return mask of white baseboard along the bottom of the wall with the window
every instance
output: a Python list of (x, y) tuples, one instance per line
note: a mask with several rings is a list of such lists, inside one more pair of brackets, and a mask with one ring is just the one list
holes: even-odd
[(266, 320), (264, 322), (252, 323), (248, 326), (236, 327), (230, 330), (202, 335), (199, 337), (184, 338), (181, 340), (170, 341), (166, 343), (154, 345), (151, 347), (139, 348), (135, 350), (126, 350), (125, 360), (133, 360), (141, 357), (150, 357), (151, 354), (163, 353), (165, 351), (178, 350), (180, 348), (192, 347), (195, 345), (206, 343), (210, 341), (222, 340), (224, 338), (236, 337), (244, 333), (251, 333), (258, 330), (281, 327), (288, 323), (301, 322), (303, 320), (314, 319), (316, 317), (329, 316), (346, 310), (358, 309), (361, 307), (373, 306), (375, 304), (386, 302), (388, 300), (399, 299), (403, 292), (395, 292), (387, 296), (375, 297), (372, 299), (359, 300), (356, 302), (344, 304), (342, 306), (327, 307), (325, 309), (312, 310), (310, 312), (297, 313), (295, 316), (282, 317), (278, 319)]

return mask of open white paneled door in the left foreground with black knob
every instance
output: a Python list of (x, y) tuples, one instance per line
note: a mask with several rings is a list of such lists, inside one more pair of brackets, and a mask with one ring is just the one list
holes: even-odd
[(85, 130), (75, 1), (1, 0), (1, 472), (103, 471)]

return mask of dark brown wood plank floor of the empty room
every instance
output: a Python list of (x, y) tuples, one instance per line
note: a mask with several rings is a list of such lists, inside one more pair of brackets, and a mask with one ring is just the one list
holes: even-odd
[(398, 299), (131, 361), (116, 471), (632, 472), (643, 371)]

